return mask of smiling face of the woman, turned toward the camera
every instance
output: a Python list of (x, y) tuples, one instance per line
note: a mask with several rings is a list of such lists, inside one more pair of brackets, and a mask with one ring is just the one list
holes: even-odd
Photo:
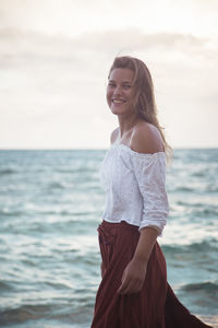
[(133, 79), (130, 69), (114, 69), (110, 73), (107, 87), (107, 102), (116, 115), (132, 113), (133, 109)]

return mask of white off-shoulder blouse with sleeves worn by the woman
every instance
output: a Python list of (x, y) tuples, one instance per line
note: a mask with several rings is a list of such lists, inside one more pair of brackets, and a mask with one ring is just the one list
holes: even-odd
[(99, 171), (106, 191), (102, 220), (153, 226), (161, 235), (169, 214), (166, 191), (166, 153), (137, 153), (113, 143)]

